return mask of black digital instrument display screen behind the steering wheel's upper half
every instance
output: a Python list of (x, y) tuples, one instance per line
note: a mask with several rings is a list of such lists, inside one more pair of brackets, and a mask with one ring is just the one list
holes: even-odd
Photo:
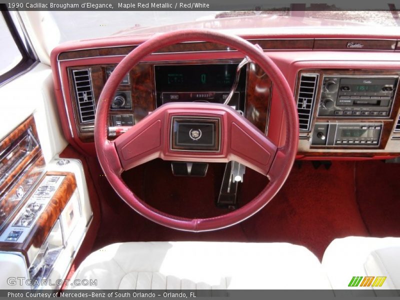
[(155, 86), (164, 92), (229, 91), (236, 67), (236, 63), (155, 65)]

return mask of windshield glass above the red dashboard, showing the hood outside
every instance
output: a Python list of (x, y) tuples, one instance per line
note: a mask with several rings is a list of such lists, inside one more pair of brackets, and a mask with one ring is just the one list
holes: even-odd
[[(218, 28), (222, 27), (222, 21), (236, 28), (251, 28), (260, 23), (265, 27), (400, 25), (399, 11), (50, 11), (50, 14), (59, 28), (60, 42), (181, 27)], [(277, 20), (278, 16), (282, 19)]]

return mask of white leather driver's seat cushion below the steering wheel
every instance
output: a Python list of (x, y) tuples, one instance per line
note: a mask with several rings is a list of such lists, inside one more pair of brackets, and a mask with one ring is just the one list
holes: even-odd
[(115, 243), (86, 257), (74, 279), (97, 279), (77, 289), (331, 289), (315, 255), (289, 243)]

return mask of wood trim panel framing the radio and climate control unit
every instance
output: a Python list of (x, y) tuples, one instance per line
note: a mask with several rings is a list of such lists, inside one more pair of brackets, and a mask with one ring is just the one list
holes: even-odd
[[(376, 148), (361, 148), (361, 147), (332, 147), (332, 146), (309, 146), (307, 151), (299, 151), (298, 155), (306, 155), (306, 156), (364, 156), (364, 157), (372, 157), (376, 155), (398, 155), (399, 152), (386, 152), (384, 151), (387, 141), (390, 138), (390, 134), (394, 128), (394, 125), (397, 121), (397, 114), (400, 109), (400, 84), (397, 86), (397, 91), (395, 97), (393, 99), (393, 106), (390, 112), (390, 116), (388, 118), (335, 118), (335, 117), (318, 117), (318, 107), (319, 107), (319, 95), (321, 93), (322, 80), (324, 75), (332, 75), (332, 74), (342, 74), (342, 75), (371, 75), (371, 76), (381, 76), (381, 75), (391, 75), (391, 76), (399, 76), (400, 70), (342, 70), (342, 69), (306, 69), (298, 72), (297, 74), (297, 82), (300, 80), (300, 75), (302, 73), (317, 73), (319, 74), (318, 79), (318, 88), (316, 90), (316, 99), (314, 111), (312, 114), (311, 126), (310, 129), (314, 127), (315, 122), (325, 122), (328, 120), (337, 120), (338, 122), (354, 122), (354, 123), (373, 123), (373, 122), (382, 122), (382, 133), (380, 136), (380, 144)], [(295, 90), (295, 96), (297, 99), (299, 85), (297, 84)], [(312, 132), (300, 132), (300, 136), (311, 136)], [(325, 150), (335, 150), (335, 151), (325, 151)], [(355, 151), (357, 150), (357, 151)], [(361, 150), (361, 151), (360, 151)]]

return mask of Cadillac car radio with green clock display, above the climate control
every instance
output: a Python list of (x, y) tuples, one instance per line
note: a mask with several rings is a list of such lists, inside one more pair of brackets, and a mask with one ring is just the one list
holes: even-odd
[(318, 116), (387, 118), (396, 76), (323, 76)]

